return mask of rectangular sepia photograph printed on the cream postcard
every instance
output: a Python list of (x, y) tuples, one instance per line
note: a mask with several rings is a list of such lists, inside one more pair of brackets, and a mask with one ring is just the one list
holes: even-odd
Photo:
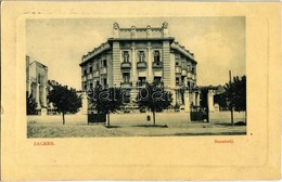
[(27, 138), (245, 135), (245, 23), (26, 18)]

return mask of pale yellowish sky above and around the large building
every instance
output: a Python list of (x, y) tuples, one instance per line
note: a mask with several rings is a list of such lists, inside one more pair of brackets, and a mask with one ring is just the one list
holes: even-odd
[(113, 37), (119, 27), (161, 27), (194, 53), (197, 86), (225, 84), (246, 74), (245, 18), (241, 16), (139, 18), (33, 18), (26, 22), (26, 54), (48, 66), (48, 77), (81, 90), (81, 56)]

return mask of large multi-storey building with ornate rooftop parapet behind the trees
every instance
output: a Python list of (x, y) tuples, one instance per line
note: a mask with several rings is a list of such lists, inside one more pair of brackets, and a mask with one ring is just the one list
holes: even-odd
[(194, 54), (161, 27), (121, 28), (113, 25), (113, 38), (82, 56), (82, 90), (97, 84), (131, 89), (131, 99), (145, 82), (162, 83), (172, 92), (172, 105), (190, 112), (200, 105)]

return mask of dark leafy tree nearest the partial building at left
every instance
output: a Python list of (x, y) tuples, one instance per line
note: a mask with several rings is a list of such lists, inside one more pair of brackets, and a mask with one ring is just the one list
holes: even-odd
[(63, 125), (65, 125), (65, 114), (75, 114), (82, 106), (81, 95), (77, 95), (76, 90), (67, 86), (62, 86), (56, 81), (48, 81), (50, 86), (48, 101), (53, 103), (59, 113), (62, 113)]

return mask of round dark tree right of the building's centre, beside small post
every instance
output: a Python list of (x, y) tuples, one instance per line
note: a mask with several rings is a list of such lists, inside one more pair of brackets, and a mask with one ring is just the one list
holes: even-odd
[(153, 113), (153, 126), (155, 126), (155, 113), (168, 108), (171, 102), (172, 93), (165, 91), (163, 86), (154, 83), (141, 88), (137, 95), (139, 108), (149, 108)]

